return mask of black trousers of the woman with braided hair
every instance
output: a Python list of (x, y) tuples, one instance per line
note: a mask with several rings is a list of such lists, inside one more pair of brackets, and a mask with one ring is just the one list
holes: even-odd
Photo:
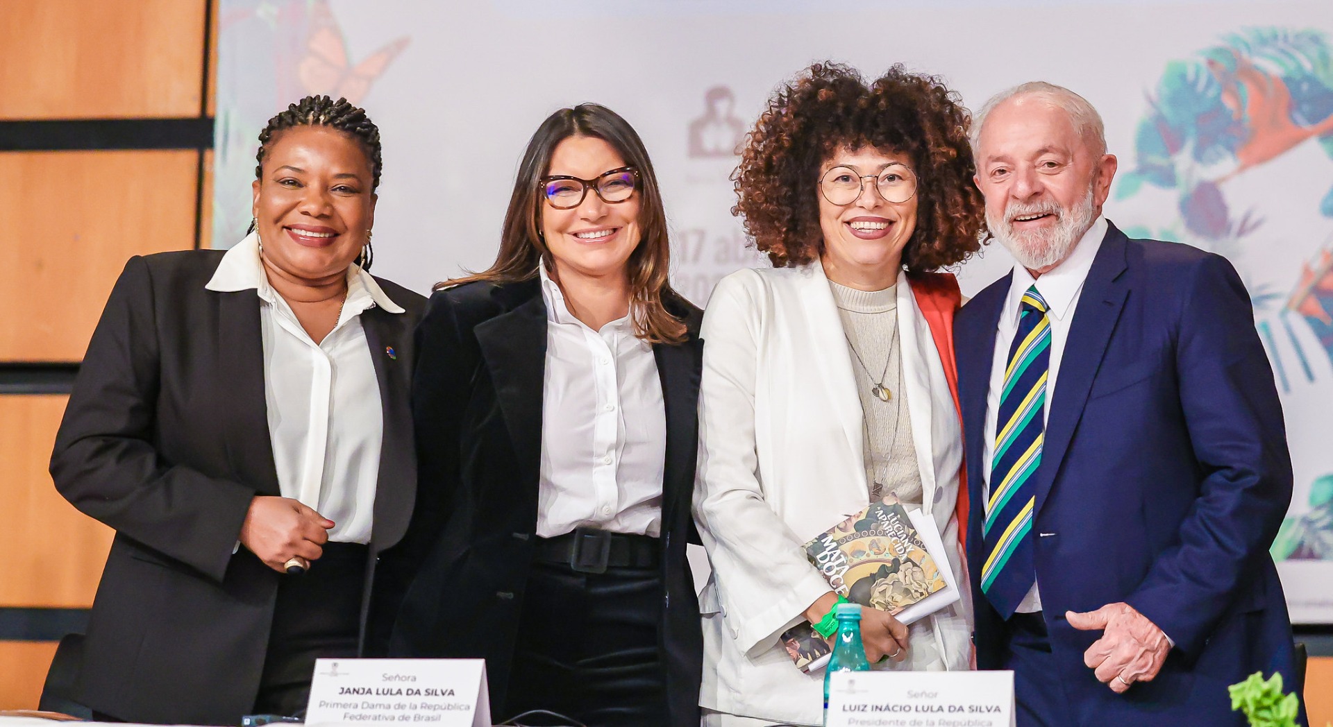
[(283, 578), (253, 714), (304, 715), (315, 659), (356, 656), (368, 558), (368, 546), (331, 542), (309, 570)]

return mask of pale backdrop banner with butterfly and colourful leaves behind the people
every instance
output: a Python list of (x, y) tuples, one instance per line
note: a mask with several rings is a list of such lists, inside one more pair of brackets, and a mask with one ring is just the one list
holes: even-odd
[[(1106, 121), (1106, 214), (1130, 236), (1229, 257), (1286, 413), (1296, 494), (1273, 547), (1297, 622), (1333, 623), (1333, 13), (1328, 0), (221, 0), (213, 244), (249, 222), (256, 137), (308, 93), (380, 125), (375, 272), (420, 290), (495, 256), (543, 119), (605, 104), (643, 136), (697, 304), (761, 265), (732, 217), (734, 149), (814, 60), (902, 63), (977, 108), (1028, 80)], [(961, 269), (974, 293), (1012, 265)]]

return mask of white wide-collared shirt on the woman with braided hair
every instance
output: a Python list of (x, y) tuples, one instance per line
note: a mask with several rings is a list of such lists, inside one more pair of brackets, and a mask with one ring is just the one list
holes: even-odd
[(269, 285), (257, 233), (223, 256), (207, 288), (259, 294), (268, 434), (283, 497), (333, 521), (331, 541), (371, 542), (384, 410), (360, 314), (375, 306), (404, 310), (369, 273), (349, 265), (337, 325), (316, 344)]

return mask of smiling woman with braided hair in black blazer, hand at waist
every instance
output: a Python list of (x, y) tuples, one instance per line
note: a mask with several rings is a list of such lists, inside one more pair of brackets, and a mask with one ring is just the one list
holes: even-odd
[(103, 720), (300, 712), (407, 529), (425, 300), (367, 273), (379, 129), (307, 97), (257, 160), (231, 250), (125, 265), (56, 435), (57, 490), (116, 530), (72, 695)]

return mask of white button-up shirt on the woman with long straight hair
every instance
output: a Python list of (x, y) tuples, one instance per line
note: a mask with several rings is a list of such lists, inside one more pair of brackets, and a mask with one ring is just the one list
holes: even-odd
[(661, 533), (666, 409), (653, 348), (629, 317), (593, 330), (541, 269), (547, 366), (537, 535)]

